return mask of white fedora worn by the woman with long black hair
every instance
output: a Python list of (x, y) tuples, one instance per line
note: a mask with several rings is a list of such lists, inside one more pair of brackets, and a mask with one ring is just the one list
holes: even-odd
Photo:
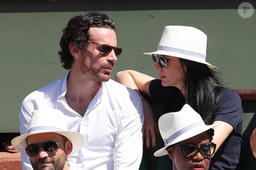
[(206, 64), (211, 69), (217, 69), (205, 61), (206, 46), (207, 35), (201, 30), (190, 26), (169, 25), (165, 27), (162, 33), (157, 51), (143, 54), (184, 58)]

